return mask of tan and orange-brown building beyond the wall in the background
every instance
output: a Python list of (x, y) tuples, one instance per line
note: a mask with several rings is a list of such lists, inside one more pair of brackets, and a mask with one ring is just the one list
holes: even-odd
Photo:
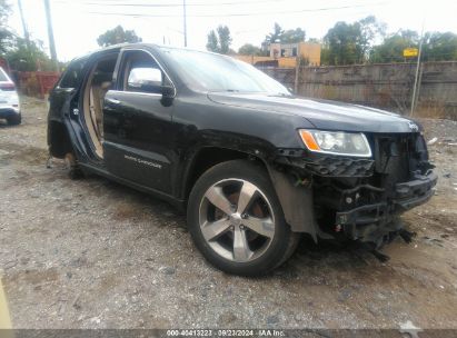
[(270, 43), (269, 57), (235, 56), (258, 67), (295, 68), (300, 57), (306, 66), (320, 66), (320, 44), (315, 42)]

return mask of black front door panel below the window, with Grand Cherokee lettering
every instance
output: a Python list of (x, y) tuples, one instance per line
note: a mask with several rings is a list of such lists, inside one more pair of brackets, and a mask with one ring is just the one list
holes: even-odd
[(108, 91), (105, 99), (105, 163), (121, 178), (170, 192), (172, 107), (161, 96)]

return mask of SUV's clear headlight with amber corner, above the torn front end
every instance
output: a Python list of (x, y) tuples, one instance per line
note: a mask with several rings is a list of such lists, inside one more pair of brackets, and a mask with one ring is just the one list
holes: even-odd
[(299, 130), (305, 146), (315, 152), (371, 157), (367, 138), (361, 132)]

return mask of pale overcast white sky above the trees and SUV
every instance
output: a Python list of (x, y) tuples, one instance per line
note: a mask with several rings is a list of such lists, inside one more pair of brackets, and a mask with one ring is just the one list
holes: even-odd
[[(43, 0), (21, 0), (32, 39), (49, 53)], [(145, 42), (183, 46), (182, 0), (49, 0), (59, 60), (98, 49), (97, 38), (118, 24), (133, 29)], [(9, 0), (9, 26), (23, 37), (18, 0)], [(388, 32), (399, 29), (457, 33), (456, 0), (186, 0), (188, 47), (205, 49), (207, 34), (227, 24), (232, 49), (260, 46), (275, 22), (282, 29), (302, 28), (308, 38), (322, 38), (337, 21), (375, 16)]]

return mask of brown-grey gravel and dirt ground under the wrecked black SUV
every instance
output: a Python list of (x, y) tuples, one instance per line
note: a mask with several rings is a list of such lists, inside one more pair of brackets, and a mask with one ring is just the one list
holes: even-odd
[(143, 193), (46, 168), (46, 105), (0, 123), (0, 276), (14, 328), (457, 329), (457, 123), (423, 120), (437, 196), (406, 213), (418, 233), (381, 264), (304, 240), (282, 268), (239, 278), (210, 267), (185, 217)]

